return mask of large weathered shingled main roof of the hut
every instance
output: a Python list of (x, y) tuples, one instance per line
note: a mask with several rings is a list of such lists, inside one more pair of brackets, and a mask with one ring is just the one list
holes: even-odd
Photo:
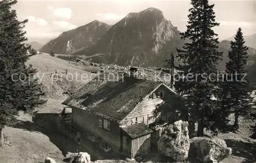
[[(119, 123), (162, 82), (124, 77), (120, 81), (99, 84), (80, 97), (67, 100), (65, 105)], [(64, 102), (63, 102), (64, 104)]]

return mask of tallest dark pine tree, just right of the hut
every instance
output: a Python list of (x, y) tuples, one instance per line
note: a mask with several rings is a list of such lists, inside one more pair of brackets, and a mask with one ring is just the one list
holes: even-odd
[(218, 95), (219, 91), (217, 76), (205, 77), (217, 73), (222, 52), (218, 51), (218, 35), (212, 30), (219, 26), (215, 22), (214, 5), (209, 5), (207, 0), (192, 0), (191, 5), (187, 30), (181, 33), (181, 38), (190, 42), (185, 43), (183, 50), (177, 49), (178, 57), (184, 63), (179, 69), (185, 76), (178, 90), (193, 102), (190, 114), (198, 121), (198, 136), (203, 136), (204, 127), (215, 121), (216, 116), (212, 115), (219, 109), (218, 103), (212, 100), (212, 95)]

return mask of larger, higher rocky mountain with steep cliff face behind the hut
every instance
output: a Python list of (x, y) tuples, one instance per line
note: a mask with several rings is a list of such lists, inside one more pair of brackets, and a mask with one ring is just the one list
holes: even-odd
[(162, 11), (148, 8), (129, 13), (92, 46), (73, 55), (86, 55), (92, 61), (106, 64), (161, 66), (158, 60), (166, 59), (171, 48), (184, 44), (179, 33)]

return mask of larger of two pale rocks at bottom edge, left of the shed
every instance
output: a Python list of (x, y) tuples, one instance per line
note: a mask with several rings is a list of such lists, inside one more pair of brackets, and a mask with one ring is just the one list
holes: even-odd
[(87, 152), (70, 153), (69, 162), (90, 163), (91, 156)]

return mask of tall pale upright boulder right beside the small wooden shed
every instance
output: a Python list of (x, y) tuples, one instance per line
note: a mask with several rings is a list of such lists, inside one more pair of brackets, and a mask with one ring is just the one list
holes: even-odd
[(176, 161), (186, 160), (189, 150), (188, 123), (177, 121), (169, 125), (158, 140), (160, 154)]

